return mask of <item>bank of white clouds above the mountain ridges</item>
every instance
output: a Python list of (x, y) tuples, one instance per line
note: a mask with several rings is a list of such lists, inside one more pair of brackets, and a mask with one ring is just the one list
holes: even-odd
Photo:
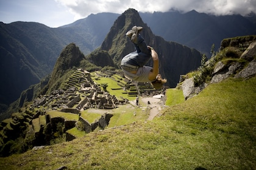
[(232, 15), (256, 11), (255, 0), (55, 0), (68, 7), (75, 19), (85, 18), (91, 13), (112, 12), (123, 13), (132, 8), (138, 12), (167, 12), (179, 10), (180, 12), (211, 13), (213, 15)]

